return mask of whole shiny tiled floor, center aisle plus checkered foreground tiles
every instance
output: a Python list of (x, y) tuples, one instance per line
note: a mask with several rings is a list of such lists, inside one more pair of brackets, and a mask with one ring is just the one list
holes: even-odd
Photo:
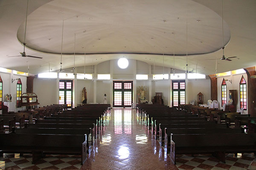
[(210, 155), (180, 155), (175, 166), (166, 150), (160, 147), (144, 123), (137, 118), (135, 109), (113, 109), (102, 133), (90, 147), (83, 166), (80, 158), (72, 155), (47, 155), (31, 164), (31, 154), (4, 154), (0, 168), (5, 170), (256, 170), (254, 154), (234, 158), (227, 155), (226, 164)]

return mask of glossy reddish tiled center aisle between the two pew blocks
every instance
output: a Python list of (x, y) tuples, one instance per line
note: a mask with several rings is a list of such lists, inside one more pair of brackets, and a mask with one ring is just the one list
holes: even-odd
[(178, 170), (136, 110), (114, 108), (81, 170)]

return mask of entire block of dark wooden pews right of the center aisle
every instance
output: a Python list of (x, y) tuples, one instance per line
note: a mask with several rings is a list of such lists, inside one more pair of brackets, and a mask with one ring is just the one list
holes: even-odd
[[(151, 127), (155, 139), (159, 136), (160, 144), (167, 147), (174, 163), (177, 154), (211, 153), (225, 163), (225, 153), (256, 152), (256, 134), (244, 133), (241, 128), (250, 115), (194, 105), (137, 105), (137, 111), (143, 121), (147, 117), (146, 125)], [(249, 120), (248, 126), (253, 128), (256, 119)], [(240, 126), (236, 123), (236, 127), (231, 127), (238, 121)]]

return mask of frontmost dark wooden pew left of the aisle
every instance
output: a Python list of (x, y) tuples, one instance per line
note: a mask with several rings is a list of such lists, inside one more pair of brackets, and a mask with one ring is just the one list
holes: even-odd
[(49, 153), (79, 154), (81, 164), (87, 158), (86, 135), (0, 133), (0, 139), (1, 154), (32, 152), (32, 164)]

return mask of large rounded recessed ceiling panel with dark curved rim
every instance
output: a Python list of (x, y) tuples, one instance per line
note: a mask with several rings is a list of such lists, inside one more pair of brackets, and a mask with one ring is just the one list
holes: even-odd
[[(221, 6), (220, 6), (221, 8)], [(191, 0), (54, 0), (29, 14), (27, 46), (35, 51), (63, 54), (138, 53), (207, 54), (222, 46), (221, 17)], [(17, 38), (23, 42), (21, 24)], [(175, 33), (175, 39), (173, 34)], [(175, 41), (174, 41), (175, 40)], [(230, 31), (224, 22), (224, 45)]]

